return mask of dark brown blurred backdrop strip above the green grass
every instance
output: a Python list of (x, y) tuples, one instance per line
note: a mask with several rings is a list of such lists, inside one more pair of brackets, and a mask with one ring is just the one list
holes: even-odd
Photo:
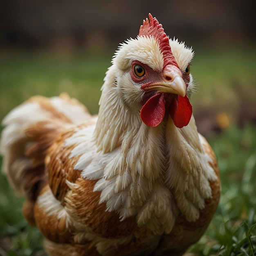
[(240, 45), (255, 39), (255, 1), (249, 0), (9, 0), (1, 4), (0, 43), (7, 48), (106, 50), (135, 37), (149, 12), (167, 34), (193, 43)]

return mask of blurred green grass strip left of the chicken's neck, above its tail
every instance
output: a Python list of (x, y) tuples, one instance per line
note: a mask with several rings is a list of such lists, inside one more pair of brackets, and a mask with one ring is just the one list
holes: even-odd
[(44, 53), (11, 53), (0, 58), (1, 117), (13, 106), (40, 94), (67, 92), (98, 112), (100, 88), (111, 55), (52, 56)]

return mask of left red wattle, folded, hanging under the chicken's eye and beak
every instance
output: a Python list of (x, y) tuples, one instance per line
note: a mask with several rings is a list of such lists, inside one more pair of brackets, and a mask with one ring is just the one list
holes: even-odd
[(158, 126), (164, 119), (164, 94), (158, 93), (148, 99), (140, 110), (140, 118), (147, 126)]

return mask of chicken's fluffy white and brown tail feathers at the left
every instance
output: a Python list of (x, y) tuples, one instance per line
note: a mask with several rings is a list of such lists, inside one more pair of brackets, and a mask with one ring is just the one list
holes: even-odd
[(91, 118), (88, 110), (67, 94), (32, 97), (13, 109), (3, 120), (0, 141), (3, 172), (16, 194), (35, 201), (48, 183), (45, 156), (56, 137)]

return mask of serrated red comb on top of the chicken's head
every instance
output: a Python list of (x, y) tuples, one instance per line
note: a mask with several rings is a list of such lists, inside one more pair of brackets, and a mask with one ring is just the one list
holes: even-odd
[(153, 36), (159, 41), (159, 48), (164, 56), (164, 67), (168, 64), (178, 66), (171, 52), (169, 38), (165, 34), (162, 24), (149, 13), (149, 20), (143, 20), (143, 25), (139, 28), (139, 36)]

